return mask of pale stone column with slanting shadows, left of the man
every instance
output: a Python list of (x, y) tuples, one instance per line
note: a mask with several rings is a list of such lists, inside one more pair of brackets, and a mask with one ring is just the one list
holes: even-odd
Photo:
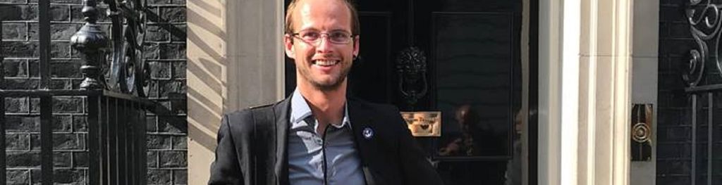
[(188, 184), (207, 184), (221, 115), (284, 96), (284, 2), (187, 4)]

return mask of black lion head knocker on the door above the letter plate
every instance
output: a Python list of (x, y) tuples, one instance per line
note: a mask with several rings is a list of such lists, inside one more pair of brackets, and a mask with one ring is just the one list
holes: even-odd
[(426, 56), (422, 50), (409, 47), (396, 57), (399, 72), (399, 91), (411, 109), (426, 95)]

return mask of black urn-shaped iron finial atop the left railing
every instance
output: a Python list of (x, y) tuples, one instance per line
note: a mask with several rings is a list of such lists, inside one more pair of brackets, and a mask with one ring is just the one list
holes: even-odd
[(105, 50), (108, 48), (108, 36), (105, 35), (100, 26), (95, 24), (98, 11), (95, 8), (95, 0), (83, 1), (82, 13), (86, 23), (78, 32), (70, 38), (73, 48), (78, 50), (85, 63), (80, 67), (85, 78), (80, 84), (80, 89), (103, 89), (105, 86), (101, 81), (100, 74), (105, 63)]

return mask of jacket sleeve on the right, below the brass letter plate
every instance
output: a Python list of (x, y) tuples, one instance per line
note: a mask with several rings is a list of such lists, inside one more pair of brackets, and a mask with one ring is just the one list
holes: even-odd
[(406, 122), (401, 118), (399, 109), (394, 108), (396, 114), (396, 132), (399, 132), (399, 159), (401, 162), (401, 174), (405, 184), (443, 184), (441, 177), (426, 159), (424, 151), (419, 143), (414, 140), (411, 132), (406, 127)]

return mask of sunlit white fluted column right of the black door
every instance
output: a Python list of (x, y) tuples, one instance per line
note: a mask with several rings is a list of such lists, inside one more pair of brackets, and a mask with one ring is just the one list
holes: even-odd
[(539, 184), (628, 184), (632, 1), (539, 4)]

